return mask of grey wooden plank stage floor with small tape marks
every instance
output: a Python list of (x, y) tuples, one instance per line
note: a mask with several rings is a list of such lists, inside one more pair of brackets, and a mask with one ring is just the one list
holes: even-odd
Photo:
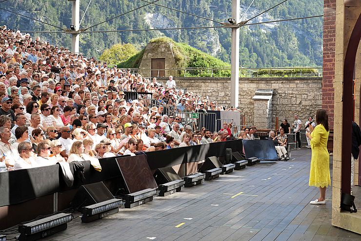
[(294, 150), (288, 162), (247, 166), (91, 223), (76, 218), (43, 240), (360, 241), (331, 225), (330, 189), (326, 205), (308, 204), (318, 198), (308, 186), (310, 154)]

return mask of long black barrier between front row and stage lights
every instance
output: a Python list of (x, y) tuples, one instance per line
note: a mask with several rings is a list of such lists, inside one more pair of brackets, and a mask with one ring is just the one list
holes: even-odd
[[(211, 156), (225, 156), (225, 149), (242, 151), (242, 141), (222, 141), (196, 146), (148, 152), (147, 161), (151, 170), (169, 167), (187, 162), (205, 160)], [(22, 221), (28, 221), (39, 215), (69, 207), (78, 188), (83, 184), (108, 181), (119, 186), (121, 172), (116, 158), (100, 159), (102, 171), (96, 171), (90, 161), (83, 161), (84, 183), (74, 177), (72, 187), (67, 187), (62, 178), (60, 165), (23, 169), (0, 173), (0, 229)], [(127, 157), (136, 160), (139, 156)], [(70, 163), (70, 165), (73, 165)], [(71, 168), (72, 170), (72, 168)], [(113, 193), (115, 195), (115, 193)]]

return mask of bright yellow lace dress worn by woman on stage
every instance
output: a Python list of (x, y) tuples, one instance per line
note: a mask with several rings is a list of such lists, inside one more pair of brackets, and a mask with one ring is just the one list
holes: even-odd
[(311, 169), (309, 186), (327, 187), (331, 185), (330, 155), (327, 151), (329, 131), (318, 124), (311, 133)]

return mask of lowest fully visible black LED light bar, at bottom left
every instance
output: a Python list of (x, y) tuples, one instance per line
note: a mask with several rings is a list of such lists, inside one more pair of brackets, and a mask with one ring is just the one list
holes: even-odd
[(68, 227), (72, 214), (60, 213), (37, 221), (28, 222), (19, 226), (20, 241), (34, 241), (45, 238)]

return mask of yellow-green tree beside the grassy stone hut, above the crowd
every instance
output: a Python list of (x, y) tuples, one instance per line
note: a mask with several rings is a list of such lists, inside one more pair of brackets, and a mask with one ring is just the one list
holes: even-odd
[(110, 49), (105, 49), (100, 56), (100, 60), (108, 64), (117, 64), (128, 60), (130, 57), (136, 55), (137, 52), (137, 49), (131, 43), (117, 43), (111, 46)]

